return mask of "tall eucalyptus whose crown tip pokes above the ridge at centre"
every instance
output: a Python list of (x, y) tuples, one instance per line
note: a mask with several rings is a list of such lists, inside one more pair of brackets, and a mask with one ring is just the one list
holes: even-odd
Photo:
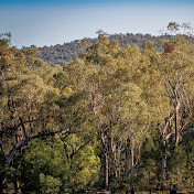
[[(109, 140), (107, 134), (110, 121), (106, 118), (107, 110), (105, 108), (108, 108), (106, 107), (106, 100), (114, 84), (111, 74), (115, 72), (115, 62), (109, 54), (111, 52), (109, 46), (109, 40), (100, 34), (99, 41), (95, 45), (90, 46), (80, 58), (69, 64), (69, 77), (72, 77), (74, 86), (84, 91), (86, 103), (93, 112), (90, 117), (96, 121), (94, 128), (98, 129), (97, 133), (101, 139), (107, 188), (109, 184), (109, 148), (107, 144)], [(119, 48), (118, 45), (115, 47), (116, 50)], [(91, 120), (91, 118), (89, 119)]]

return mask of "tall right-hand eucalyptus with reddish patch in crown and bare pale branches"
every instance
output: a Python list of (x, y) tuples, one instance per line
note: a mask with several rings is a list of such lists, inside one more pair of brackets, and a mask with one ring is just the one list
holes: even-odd
[[(181, 25), (173, 22), (168, 26), (170, 31), (176, 33), (180, 28)], [(152, 69), (158, 72), (155, 77), (158, 89), (155, 91), (158, 90), (160, 94), (161, 106), (158, 107), (162, 111), (160, 117), (158, 117), (158, 128), (162, 136), (162, 180), (165, 182), (168, 169), (166, 151), (170, 139), (174, 138), (174, 147), (177, 150), (184, 131), (191, 127), (194, 47), (188, 36), (180, 34), (173, 36), (172, 40), (161, 41), (161, 45), (163, 52), (159, 53), (155, 50), (149, 54), (149, 51), (153, 50), (153, 46), (151, 46), (152, 48), (149, 48), (144, 54), (149, 56)], [(174, 161), (177, 162), (177, 158), (179, 154), (176, 154)], [(177, 168), (175, 171), (179, 171)], [(175, 174), (177, 173), (175, 172)]]

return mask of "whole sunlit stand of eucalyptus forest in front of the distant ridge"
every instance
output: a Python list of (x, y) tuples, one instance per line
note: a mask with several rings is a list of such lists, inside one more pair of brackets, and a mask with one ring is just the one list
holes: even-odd
[(52, 66), (2, 34), (0, 193), (194, 192), (194, 45), (175, 32), (160, 51), (99, 33)]

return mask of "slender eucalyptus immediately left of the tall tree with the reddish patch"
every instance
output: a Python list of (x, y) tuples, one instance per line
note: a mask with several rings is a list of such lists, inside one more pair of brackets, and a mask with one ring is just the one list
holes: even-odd
[(147, 84), (144, 85), (144, 98), (149, 101), (151, 106), (152, 119), (154, 125), (152, 128), (158, 128), (161, 141), (162, 141), (162, 181), (165, 182), (166, 179), (166, 152), (168, 144), (172, 131), (172, 106), (170, 105), (170, 99), (164, 95), (163, 91), (163, 80), (161, 74), (155, 68), (161, 54), (157, 51), (157, 46), (152, 42), (147, 42), (143, 45), (142, 51), (143, 63), (146, 64), (144, 77)]

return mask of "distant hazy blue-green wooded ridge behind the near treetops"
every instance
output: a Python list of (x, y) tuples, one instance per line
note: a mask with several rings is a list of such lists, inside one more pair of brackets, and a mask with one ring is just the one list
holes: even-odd
[[(114, 42), (117, 40), (119, 42), (120, 47), (125, 47), (126, 44), (137, 44), (140, 48), (142, 48), (142, 45), (144, 42), (152, 41), (158, 44), (158, 47), (160, 47), (159, 42), (162, 39), (171, 39), (171, 35), (161, 35), (161, 36), (153, 36), (150, 34), (114, 34), (109, 35), (110, 42)], [(89, 44), (96, 43), (96, 39), (85, 39), (85, 41)], [(82, 40), (73, 41), (71, 43), (64, 43), (63, 45), (54, 45), (54, 46), (44, 46), (39, 47), (39, 51), (41, 52), (40, 57), (44, 60), (47, 63), (52, 64), (63, 64), (64, 62), (71, 62), (78, 57), (78, 54), (82, 53), (82, 48), (79, 47), (79, 43)], [(33, 46), (32, 46), (33, 47)]]

